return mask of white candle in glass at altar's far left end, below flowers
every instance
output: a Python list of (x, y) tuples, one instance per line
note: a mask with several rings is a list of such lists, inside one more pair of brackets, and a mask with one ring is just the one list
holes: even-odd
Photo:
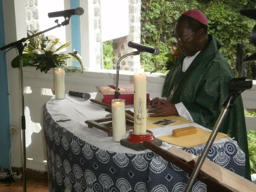
[(55, 76), (55, 98), (65, 99), (65, 69), (62, 67), (54, 68)]

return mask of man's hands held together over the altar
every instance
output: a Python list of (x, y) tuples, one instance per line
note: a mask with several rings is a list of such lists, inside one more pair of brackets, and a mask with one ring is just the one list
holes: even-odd
[(172, 115), (179, 115), (175, 105), (170, 103), (167, 100), (156, 97), (150, 100), (147, 103), (147, 108), (152, 110), (148, 110), (147, 113), (152, 113), (148, 115), (149, 117), (166, 117)]

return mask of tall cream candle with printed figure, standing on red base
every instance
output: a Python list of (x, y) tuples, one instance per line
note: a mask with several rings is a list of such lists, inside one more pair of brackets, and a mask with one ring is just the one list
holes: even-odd
[(147, 73), (134, 73), (134, 135), (147, 134)]

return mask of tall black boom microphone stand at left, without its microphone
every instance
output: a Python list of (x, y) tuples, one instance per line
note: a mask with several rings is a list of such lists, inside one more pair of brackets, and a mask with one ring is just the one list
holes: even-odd
[(23, 153), (23, 191), (26, 192), (26, 135), (25, 135), (25, 130), (26, 130), (26, 118), (25, 118), (25, 109), (24, 109), (24, 92), (23, 92), (23, 63), (22, 63), (22, 54), (24, 50), (24, 45), (23, 42), (26, 42), (26, 40), (31, 39), (33, 37), (36, 37), (38, 35), (41, 35), (47, 31), (50, 31), (52, 29), (55, 29), (57, 27), (65, 26), (69, 24), (69, 19), (71, 16), (68, 17), (68, 19), (63, 21), (61, 24), (58, 23), (58, 19), (55, 20), (55, 23), (57, 23), (56, 26), (51, 27), (49, 29), (46, 29), (44, 31), (41, 31), (39, 33), (36, 33), (34, 35), (31, 35), (26, 38), (22, 38), (16, 42), (12, 42), (8, 45), (5, 45), (0, 48), (0, 50), (4, 50), (7, 48), (14, 48), (16, 47), (19, 52), (19, 64), (20, 64), (20, 86), (21, 86), (21, 97), (22, 97), (22, 115), (21, 115), (21, 129), (22, 129), (22, 153)]

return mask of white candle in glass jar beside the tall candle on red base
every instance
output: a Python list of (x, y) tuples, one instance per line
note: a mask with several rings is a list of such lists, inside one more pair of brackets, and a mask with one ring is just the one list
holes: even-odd
[(111, 108), (113, 141), (120, 142), (121, 139), (126, 138), (125, 100), (113, 99)]

